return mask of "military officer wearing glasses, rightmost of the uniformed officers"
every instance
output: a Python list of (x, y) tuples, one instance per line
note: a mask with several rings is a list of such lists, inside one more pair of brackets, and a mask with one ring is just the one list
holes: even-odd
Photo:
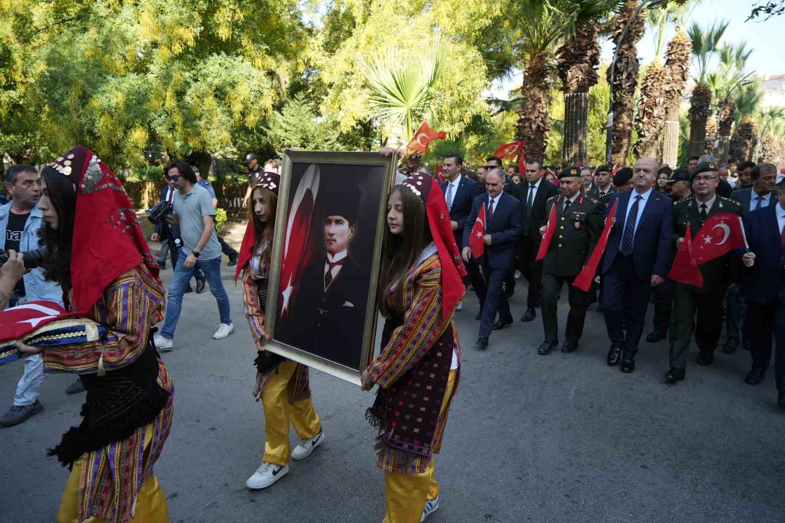
[[(714, 163), (699, 164), (690, 176), (694, 196), (674, 203), (676, 247), (684, 241), (688, 226), (692, 237), (697, 240), (701, 226), (714, 214), (741, 215), (739, 202), (717, 196), (719, 174)], [(738, 282), (739, 259), (733, 252), (705, 262), (698, 268), (703, 276), (703, 287), (674, 282), (674, 313), (670, 320), (670, 370), (665, 375), (666, 381), (670, 383), (685, 379), (687, 351), (693, 331), (699, 349), (698, 364), (708, 365), (714, 361), (714, 349), (717, 348), (722, 332), (725, 292), (728, 291), (728, 285)]]

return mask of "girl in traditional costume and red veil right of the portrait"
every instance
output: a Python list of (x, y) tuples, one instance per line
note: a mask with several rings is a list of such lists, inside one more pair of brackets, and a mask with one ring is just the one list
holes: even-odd
[(414, 523), (439, 507), (433, 455), (458, 387), (461, 349), (452, 316), (466, 269), (432, 177), (415, 174), (392, 189), (387, 225), (377, 298), (386, 319), (382, 351), (362, 384), (379, 386), (367, 417), (380, 432), (384, 523)]

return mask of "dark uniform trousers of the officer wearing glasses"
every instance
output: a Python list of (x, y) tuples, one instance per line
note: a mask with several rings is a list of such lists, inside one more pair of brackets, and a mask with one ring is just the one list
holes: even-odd
[[(692, 332), (701, 353), (712, 354), (722, 334), (722, 299), (725, 286), (698, 294), (674, 282), (674, 314), (670, 320), (670, 366), (686, 368)], [(697, 317), (696, 317), (697, 316)]]

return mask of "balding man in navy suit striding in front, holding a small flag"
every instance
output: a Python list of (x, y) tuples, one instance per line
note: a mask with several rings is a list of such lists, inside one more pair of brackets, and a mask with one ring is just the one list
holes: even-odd
[[(472, 214), (463, 228), (463, 259), (469, 262), (471, 249), (469, 237), (474, 222), (480, 214), (480, 207), (485, 207), (485, 253), (480, 259), (483, 273), (487, 281), (487, 294), (480, 320), (480, 335), (477, 348), (486, 349), (491, 330), (498, 330), (513, 323), (509, 312), (509, 303), (502, 294), (502, 284), (507, 272), (515, 263), (515, 243), (520, 237), (523, 227), (523, 216), (520, 202), (515, 196), (504, 192), (504, 172), (501, 169), (491, 170), (485, 177), (487, 194), (476, 196), (472, 203)], [(496, 312), (499, 319), (496, 324)]]

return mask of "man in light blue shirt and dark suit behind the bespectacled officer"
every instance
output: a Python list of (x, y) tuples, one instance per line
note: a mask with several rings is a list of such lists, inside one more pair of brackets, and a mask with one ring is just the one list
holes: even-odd
[[(751, 167), (750, 167), (751, 164)], [(777, 203), (774, 184), (777, 177), (776, 166), (771, 163), (761, 163), (756, 166), (752, 162), (739, 164), (739, 170), (750, 171), (752, 185), (734, 191), (731, 199), (741, 203), (742, 212), (749, 212), (761, 207), (773, 206)], [(743, 299), (739, 296), (739, 287), (728, 289), (728, 313), (725, 318), (725, 332), (728, 337), (722, 352), (732, 354), (739, 348), (739, 342), (745, 349), (750, 349), (749, 331), (743, 324), (744, 312), (747, 309)]]

